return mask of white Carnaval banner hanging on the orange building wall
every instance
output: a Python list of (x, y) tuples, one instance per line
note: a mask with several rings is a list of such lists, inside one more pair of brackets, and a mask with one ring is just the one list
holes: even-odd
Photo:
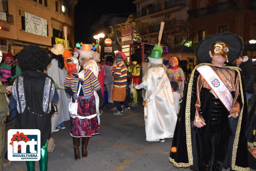
[(25, 31), (47, 37), (47, 20), (25, 12)]

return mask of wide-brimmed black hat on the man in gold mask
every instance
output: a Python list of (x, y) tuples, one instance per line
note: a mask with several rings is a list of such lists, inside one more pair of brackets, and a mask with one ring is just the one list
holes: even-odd
[(244, 48), (242, 38), (230, 32), (209, 35), (204, 40), (201, 40), (195, 49), (195, 55), (198, 63), (212, 61), (209, 51), (212, 48), (212, 44), (217, 42), (224, 42), (227, 44), (229, 49), (229, 53), (227, 55), (228, 61), (233, 61), (235, 58), (239, 57)]

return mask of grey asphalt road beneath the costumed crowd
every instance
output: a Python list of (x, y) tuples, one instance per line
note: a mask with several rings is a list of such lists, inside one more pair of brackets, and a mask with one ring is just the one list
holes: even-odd
[[(74, 159), (70, 122), (66, 129), (52, 134), (55, 151), (49, 153), (48, 171), (187, 171), (169, 162), (172, 139), (166, 142), (147, 142), (143, 107), (132, 107), (122, 116), (112, 114), (111, 105), (100, 116), (99, 135), (90, 138), (88, 157)], [(13, 126), (8, 126), (7, 129)], [(80, 146), (81, 147), (81, 146)], [(81, 154), (81, 150), (80, 150)], [(6, 159), (4, 159), (6, 161)], [(39, 163), (35, 163), (39, 171)], [(25, 162), (12, 162), (3, 171), (26, 171)]]

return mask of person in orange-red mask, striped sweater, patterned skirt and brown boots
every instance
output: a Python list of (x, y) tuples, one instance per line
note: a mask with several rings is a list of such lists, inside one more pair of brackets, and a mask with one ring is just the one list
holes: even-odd
[(73, 137), (74, 157), (80, 158), (80, 138), (82, 139), (82, 157), (87, 157), (87, 145), (91, 136), (99, 134), (99, 124), (96, 114), (96, 101), (93, 95), (99, 96), (99, 106), (103, 98), (98, 78), (91, 70), (84, 69), (76, 57), (67, 59), (70, 72), (64, 81), (66, 93), (72, 102), (77, 102), (76, 114), (70, 113), (70, 135)]

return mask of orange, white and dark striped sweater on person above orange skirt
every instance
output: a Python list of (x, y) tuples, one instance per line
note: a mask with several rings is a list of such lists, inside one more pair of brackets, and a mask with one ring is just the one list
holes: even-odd
[(119, 62), (116, 65), (116, 71), (112, 72), (114, 76), (114, 87), (126, 87), (127, 84), (127, 67), (124, 62)]

